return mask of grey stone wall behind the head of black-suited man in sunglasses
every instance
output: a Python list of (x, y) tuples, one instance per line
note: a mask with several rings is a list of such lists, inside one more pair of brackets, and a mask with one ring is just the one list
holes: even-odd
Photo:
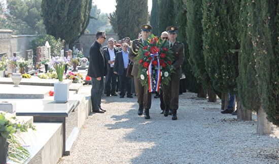
[[(106, 34), (106, 36), (107, 36), (107, 39), (103, 43), (102, 46), (108, 45), (107, 41), (110, 37), (112, 37), (112, 38), (114, 38), (114, 40), (118, 41), (118, 35), (117, 34)], [(90, 46), (94, 43), (95, 40), (96, 40), (95, 34), (85, 34), (85, 35), (82, 35), (79, 38), (78, 42), (81, 43), (81, 47), (83, 49), (83, 54), (84, 54), (85, 57), (89, 56)]]

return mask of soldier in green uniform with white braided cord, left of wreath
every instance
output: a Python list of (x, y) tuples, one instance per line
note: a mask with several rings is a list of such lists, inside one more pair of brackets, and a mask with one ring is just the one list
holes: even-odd
[(140, 44), (142, 44), (144, 41), (148, 39), (151, 29), (152, 27), (150, 25), (142, 25), (142, 38), (133, 40), (129, 51), (129, 60), (134, 63), (131, 75), (134, 77), (134, 88), (137, 96), (137, 102), (139, 105), (137, 114), (138, 116), (143, 115), (143, 110), (145, 109), (145, 119), (150, 119), (149, 110), (151, 107), (151, 93), (149, 93), (148, 88), (146, 86), (142, 86), (140, 80), (137, 78), (138, 63), (135, 62), (134, 58), (138, 54)]

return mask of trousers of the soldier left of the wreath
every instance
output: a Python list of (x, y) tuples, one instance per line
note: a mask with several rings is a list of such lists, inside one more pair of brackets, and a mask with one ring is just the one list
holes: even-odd
[(137, 96), (137, 103), (140, 107), (150, 109), (151, 107), (151, 93), (146, 86), (142, 86), (138, 78), (134, 78), (134, 88)]

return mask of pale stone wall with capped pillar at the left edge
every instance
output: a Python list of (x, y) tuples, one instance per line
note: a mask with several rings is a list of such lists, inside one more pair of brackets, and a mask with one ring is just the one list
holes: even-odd
[(29, 43), (36, 35), (12, 35), (12, 30), (0, 30), (0, 53), (12, 57), (14, 52), (25, 54)]

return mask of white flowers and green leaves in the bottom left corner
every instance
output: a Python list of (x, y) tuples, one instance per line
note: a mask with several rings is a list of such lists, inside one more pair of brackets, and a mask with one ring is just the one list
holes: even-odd
[(6, 138), (6, 142), (9, 143), (9, 159), (19, 163), (29, 159), (28, 150), (18, 142), (15, 135), (18, 132), (27, 132), (29, 129), (36, 130), (31, 124), (17, 123), (15, 115), (0, 111), (0, 137)]

